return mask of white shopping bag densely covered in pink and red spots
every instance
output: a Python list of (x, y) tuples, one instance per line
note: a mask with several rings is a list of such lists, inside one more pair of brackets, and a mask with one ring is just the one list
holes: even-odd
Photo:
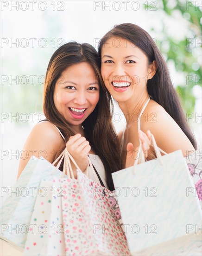
[(90, 180), (78, 167), (77, 180), (63, 178), (61, 187), (66, 256), (130, 255), (111, 191)]

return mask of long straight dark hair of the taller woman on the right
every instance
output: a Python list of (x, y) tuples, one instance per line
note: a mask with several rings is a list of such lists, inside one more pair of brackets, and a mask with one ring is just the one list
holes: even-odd
[(132, 23), (123, 23), (115, 26), (102, 37), (99, 43), (98, 54), (100, 58), (103, 45), (112, 37), (118, 37), (132, 42), (133, 45), (137, 46), (145, 53), (149, 64), (152, 64), (154, 60), (156, 61), (158, 67), (156, 74), (152, 79), (147, 81), (148, 94), (177, 122), (193, 147), (197, 149), (196, 139), (186, 122), (183, 108), (181, 107), (178, 94), (171, 82), (167, 65), (150, 34)]

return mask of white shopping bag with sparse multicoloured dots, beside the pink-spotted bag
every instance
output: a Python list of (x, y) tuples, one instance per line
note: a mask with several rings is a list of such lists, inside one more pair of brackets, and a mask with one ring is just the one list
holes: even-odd
[(46, 194), (37, 196), (30, 222), (34, 230), (28, 231), (24, 255), (65, 255), (60, 179), (42, 180), (40, 187)]

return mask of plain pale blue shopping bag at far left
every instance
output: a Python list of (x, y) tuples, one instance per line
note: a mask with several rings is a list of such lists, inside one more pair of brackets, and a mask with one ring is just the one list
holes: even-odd
[(0, 238), (24, 249), (32, 211), (41, 179), (51, 180), (62, 172), (45, 159), (33, 158), (27, 163), (0, 210)]

